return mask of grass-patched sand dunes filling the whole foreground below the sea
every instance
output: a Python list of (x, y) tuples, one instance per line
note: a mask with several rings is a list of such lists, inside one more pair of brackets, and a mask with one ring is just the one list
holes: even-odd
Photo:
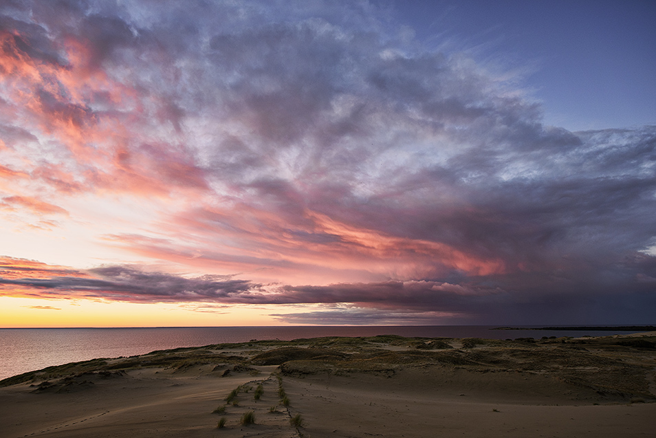
[(653, 437), (655, 347), (641, 333), (157, 351), (1, 381), (0, 436)]

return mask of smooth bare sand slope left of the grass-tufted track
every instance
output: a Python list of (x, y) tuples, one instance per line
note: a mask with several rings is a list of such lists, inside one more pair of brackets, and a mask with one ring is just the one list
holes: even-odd
[[(0, 392), (0, 436), (214, 437), (219, 416), (212, 410), (233, 388), (253, 377), (186, 374), (131, 371), (125, 377), (96, 380), (92, 387), (69, 393), (35, 394), (27, 391), (29, 387), (5, 388)], [(237, 424), (241, 410), (228, 409), (224, 416), (229, 424)]]

